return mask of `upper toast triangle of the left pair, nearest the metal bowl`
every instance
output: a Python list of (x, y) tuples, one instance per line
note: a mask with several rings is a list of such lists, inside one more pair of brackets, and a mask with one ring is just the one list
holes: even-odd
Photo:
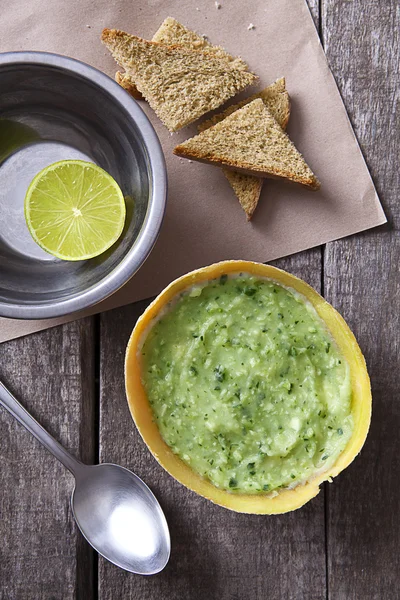
[(170, 131), (189, 125), (257, 80), (208, 50), (148, 42), (104, 29), (102, 41)]

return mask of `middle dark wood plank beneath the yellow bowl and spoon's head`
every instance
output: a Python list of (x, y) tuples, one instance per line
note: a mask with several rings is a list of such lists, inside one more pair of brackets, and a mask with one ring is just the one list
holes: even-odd
[[(319, 250), (278, 261), (320, 286)], [(240, 515), (177, 483), (151, 456), (125, 399), (126, 343), (145, 303), (101, 316), (100, 460), (119, 462), (148, 483), (166, 513), (172, 554), (166, 570), (144, 578), (100, 559), (99, 598), (265, 600), (325, 598), (324, 498), (282, 516)]]

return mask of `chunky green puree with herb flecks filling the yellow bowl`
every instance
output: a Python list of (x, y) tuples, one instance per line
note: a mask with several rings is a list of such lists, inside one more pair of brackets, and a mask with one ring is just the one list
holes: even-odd
[(294, 487), (352, 434), (348, 364), (312, 305), (271, 280), (193, 287), (151, 328), (142, 360), (165, 442), (219, 488)]

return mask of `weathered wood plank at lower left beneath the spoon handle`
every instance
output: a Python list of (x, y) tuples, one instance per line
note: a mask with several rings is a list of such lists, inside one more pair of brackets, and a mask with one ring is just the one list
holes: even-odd
[[(0, 377), (71, 452), (94, 459), (91, 319), (0, 346)], [(0, 408), (0, 598), (91, 600), (93, 552), (75, 526), (73, 478)]]

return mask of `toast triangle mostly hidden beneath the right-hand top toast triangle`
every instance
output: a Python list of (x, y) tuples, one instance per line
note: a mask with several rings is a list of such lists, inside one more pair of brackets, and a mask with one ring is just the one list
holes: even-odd
[[(203, 123), (198, 125), (198, 130), (205, 131), (206, 129), (209, 129), (209, 127), (212, 127), (216, 123), (223, 121), (236, 110), (246, 106), (246, 104), (249, 104), (257, 98), (261, 98), (265, 106), (269, 108), (271, 114), (282, 127), (282, 129), (286, 129), (290, 117), (290, 97), (286, 91), (285, 78), (281, 77), (280, 79), (277, 79), (275, 83), (261, 90), (261, 92), (253, 94), (249, 98), (238, 102), (238, 104), (229, 106), (222, 113), (211, 117), (211, 119), (203, 121)], [(233, 191), (235, 192), (244, 212), (246, 213), (247, 220), (250, 221), (260, 199), (263, 179), (254, 177), (253, 175), (236, 173), (235, 171), (230, 171), (225, 167), (222, 168), (222, 172), (233, 188)]]

